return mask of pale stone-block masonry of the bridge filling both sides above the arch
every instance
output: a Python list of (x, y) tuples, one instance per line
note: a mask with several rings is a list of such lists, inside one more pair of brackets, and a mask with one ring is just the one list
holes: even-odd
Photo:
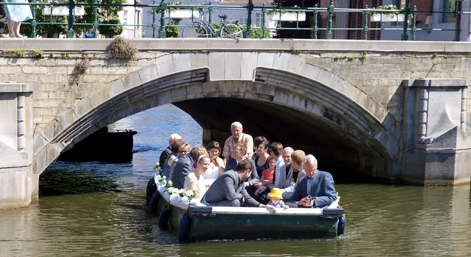
[[(86, 75), (77, 80), (73, 75), (74, 66), (84, 53), (92, 57), (92, 61)], [(353, 83), (383, 105), (398, 121), (403, 112), (403, 88), (400, 87), (403, 79), (471, 77), (469, 53), (364, 53), (292, 51), (292, 54), (305, 56), (307, 64), (329, 70)], [(106, 82), (155, 64), (155, 59), (162, 55), (166, 53), (142, 50), (136, 59), (127, 62), (111, 59), (104, 51), (44, 51), (43, 57), (39, 58), (30, 51), (25, 51), (21, 58), (13, 53), (1, 53), (0, 82), (34, 84), (34, 131), (37, 133), (44, 124), (71, 107), (75, 100), (97, 91)], [(471, 100), (468, 100), (468, 105), (471, 105)], [(470, 109), (468, 107), (468, 124), (471, 123)]]

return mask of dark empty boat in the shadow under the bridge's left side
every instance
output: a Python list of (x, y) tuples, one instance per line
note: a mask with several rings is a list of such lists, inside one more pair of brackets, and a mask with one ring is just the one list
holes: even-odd
[(82, 139), (71, 149), (60, 154), (59, 161), (105, 161), (110, 163), (132, 161), (133, 135), (130, 129), (108, 132), (107, 126)]

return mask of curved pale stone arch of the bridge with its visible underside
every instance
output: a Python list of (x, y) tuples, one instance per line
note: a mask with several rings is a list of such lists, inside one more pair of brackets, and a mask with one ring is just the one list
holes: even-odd
[(195, 100), (227, 99), (262, 109), (276, 106), (290, 110), (290, 116), (315, 120), (304, 131), (315, 124), (331, 129), (345, 145), (372, 157), (360, 162), (373, 163), (373, 176), (395, 178), (400, 153), (396, 120), (353, 84), (308, 62), (306, 55), (291, 53), (162, 55), (155, 65), (103, 85), (44, 126), (34, 138), (33, 172), (42, 173), (73, 144), (134, 113), (168, 103), (185, 109)]

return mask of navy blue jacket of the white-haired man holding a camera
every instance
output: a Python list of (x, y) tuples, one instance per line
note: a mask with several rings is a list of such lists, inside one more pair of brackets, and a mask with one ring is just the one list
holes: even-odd
[(332, 175), (329, 172), (322, 172), (318, 170), (314, 174), (314, 178), (311, 184), (311, 191), (307, 192), (307, 176), (303, 176), (298, 181), (298, 185), (294, 189), (293, 195), (288, 202), (298, 202), (305, 198), (307, 195), (316, 197), (316, 204), (312, 206), (324, 207), (329, 206), (335, 200), (337, 200), (337, 191), (335, 191)]

